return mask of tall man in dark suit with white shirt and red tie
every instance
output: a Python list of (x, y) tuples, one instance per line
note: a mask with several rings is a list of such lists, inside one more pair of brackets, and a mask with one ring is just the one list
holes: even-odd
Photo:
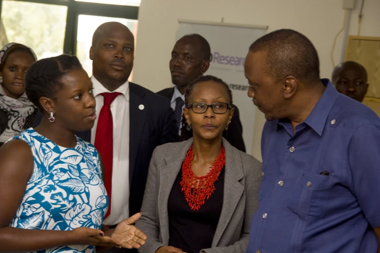
[(140, 211), (154, 148), (179, 140), (170, 101), (128, 81), (133, 53), (133, 34), (123, 24), (95, 31), (90, 59), (98, 118), (91, 143), (105, 165), (110, 207), (103, 223), (109, 226)]

